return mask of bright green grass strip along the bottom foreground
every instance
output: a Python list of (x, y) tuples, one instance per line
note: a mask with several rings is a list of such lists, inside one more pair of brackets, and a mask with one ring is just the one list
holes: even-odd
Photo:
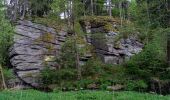
[(35, 90), (2, 91), (0, 100), (170, 100), (170, 96), (137, 92), (77, 91), (44, 93)]

